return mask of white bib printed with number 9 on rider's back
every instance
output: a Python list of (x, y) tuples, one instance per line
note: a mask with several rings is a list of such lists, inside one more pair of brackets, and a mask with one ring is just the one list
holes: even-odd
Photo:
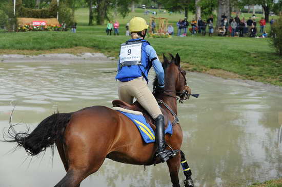
[[(142, 56), (141, 48), (142, 48), (142, 42), (138, 42), (134, 44), (122, 44), (122, 46), (120, 46), (119, 64), (141, 65), (141, 56)], [(133, 62), (136, 62), (136, 64), (134, 64)]]

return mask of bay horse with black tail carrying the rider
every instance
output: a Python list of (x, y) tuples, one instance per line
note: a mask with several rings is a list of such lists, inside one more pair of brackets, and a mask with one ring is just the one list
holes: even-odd
[[(175, 115), (177, 119), (177, 99), (189, 99), (191, 89), (187, 85), (186, 72), (180, 67), (179, 55), (170, 56), (171, 61), (164, 55), (162, 63), (165, 71), (164, 91), (153, 93), (158, 101), (162, 101), (160, 107), (165, 118), (172, 122)], [(157, 82), (155, 78), (154, 85)], [(133, 104), (138, 105), (138, 102)], [(173, 125), (173, 135), (167, 134), (165, 139), (173, 149), (180, 150), (183, 132), (178, 122)], [(47, 147), (54, 149), (56, 144), (67, 174), (55, 187), (78, 187), (87, 176), (98, 171), (105, 158), (132, 165), (159, 163), (155, 158), (155, 144), (145, 144), (138, 129), (127, 116), (105, 106), (54, 113), (39, 123), (31, 133), (17, 133), (10, 119), (5, 142), (17, 143), (31, 156), (45, 151)], [(186, 176), (185, 186), (194, 186), (191, 170), (182, 151), (167, 161), (172, 186), (180, 186), (180, 162)]]

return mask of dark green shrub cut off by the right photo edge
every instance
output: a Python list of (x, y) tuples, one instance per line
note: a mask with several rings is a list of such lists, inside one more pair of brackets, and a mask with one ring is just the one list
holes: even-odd
[(271, 26), (271, 43), (276, 52), (282, 56), (282, 15)]

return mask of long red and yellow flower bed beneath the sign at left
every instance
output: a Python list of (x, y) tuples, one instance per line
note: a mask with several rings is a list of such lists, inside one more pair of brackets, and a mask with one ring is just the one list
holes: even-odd
[(26, 31), (62, 31), (62, 25), (31, 25), (24, 24), (18, 25), (18, 32), (26, 32)]

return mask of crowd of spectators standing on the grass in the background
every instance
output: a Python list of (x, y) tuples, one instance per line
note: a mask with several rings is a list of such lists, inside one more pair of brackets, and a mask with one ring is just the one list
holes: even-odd
[[(167, 34), (169, 35), (177, 35), (177, 36), (187, 36), (188, 32), (191, 35), (195, 34), (201, 34), (202, 36), (206, 36), (207, 28), (209, 32), (209, 36), (213, 36), (214, 33), (214, 19), (213, 15), (211, 15), (207, 20), (203, 20), (201, 17), (198, 18), (198, 20), (192, 19), (190, 22), (187, 20), (187, 17), (184, 17), (184, 19), (179, 19), (177, 21), (177, 32), (174, 32), (174, 28), (172, 25), (169, 25), (167, 28)], [(273, 25), (275, 20), (272, 18), (270, 21), (270, 25)], [(190, 28), (189, 28), (190, 26)], [(259, 32), (257, 27), (259, 26)], [(73, 27), (76, 27), (73, 26)], [(238, 15), (236, 15), (234, 18), (230, 17), (230, 19), (227, 19), (227, 16), (223, 14), (221, 16), (221, 25), (217, 28), (217, 35), (218, 36), (249, 36), (249, 37), (262, 37), (265, 38), (268, 36), (268, 33), (265, 31), (266, 27), (266, 20), (261, 17), (261, 19), (256, 21), (255, 15), (252, 17), (249, 17), (249, 19), (246, 21), (245, 17), (239, 18)], [(126, 36), (129, 36), (129, 23), (126, 25)], [(119, 29), (119, 22), (116, 20), (114, 24), (112, 24), (112, 21), (109, 21), (107, 24), (106, 33), (107, 35), (111, 35), (112, 31), (114, 31), (114, 35), (119, 35), (118, 32)], [(72, 29), (73, 30), (73, 29)], [(151, 22), (151, 30), (153, 33), (156, 32), (156, 23), (154, 20)], [(75, 31), (74, 31), (75, 32)]]

